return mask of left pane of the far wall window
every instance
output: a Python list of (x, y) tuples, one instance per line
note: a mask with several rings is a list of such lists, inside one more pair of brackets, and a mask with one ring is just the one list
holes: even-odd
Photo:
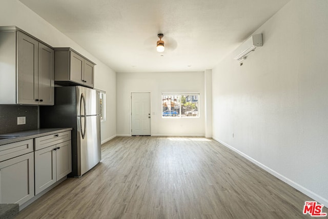
[(162, 95), (162, 116), (180, 116), (180, 96)]

